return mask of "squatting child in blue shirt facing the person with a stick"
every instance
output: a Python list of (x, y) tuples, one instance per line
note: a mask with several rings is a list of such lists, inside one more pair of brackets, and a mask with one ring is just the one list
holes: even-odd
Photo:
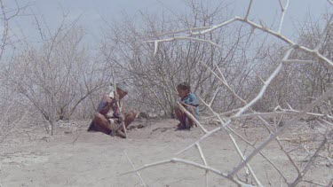
[[(191, 88), (187, 82), (178, 84), (177, 86), (178, 96), (180, 97), (180, 105), (183, 105), (186, 110), (191, 113), (196, 120), (199, 120), (199, 104), (195, 95), (191, 92)], [(178, 129), (191, 129), (195, 125), (195, 122), (191, 120), (186, 113), (180, 110), (179, 105), (175, 105), (175, 113), (180, 122)]]

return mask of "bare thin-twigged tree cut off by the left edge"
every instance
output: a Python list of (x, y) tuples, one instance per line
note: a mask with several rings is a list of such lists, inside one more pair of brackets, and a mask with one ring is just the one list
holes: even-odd
[(13, 57), (17, 52), (18, 45), (24, 40), (17, 31), (13, 29), (12, 23), (16, 19), (20, 19), (22, 12), (26, 10), (28, 4), (12, 1), (12, 4), (0, 1), (0, 142), (4, 138), (20, 127), (20, 123), (24, 120), (27, 113), (24, 108), (28, 105), (21, 102), (17, 95), (18, 84), (8, 86), (11, 82), (11, 74), (15, 70), (12, 69)]

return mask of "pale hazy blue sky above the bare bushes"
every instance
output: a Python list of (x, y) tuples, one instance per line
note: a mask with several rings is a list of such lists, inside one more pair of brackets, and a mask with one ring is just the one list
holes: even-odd
[[(286, 0), (281, 0), (283, 4)], [(14, 6), (12, 0), (4, 1), (5, 4)], [(63, 12), (68, 13), (68, 19), (79, 19), (79, 24), (86, 30), (86, 40), (99, 42), (102, 39), (101, 28), (105, 27), (105, 20), (113, 21), (122, 18), (123, 12), (134, 18), (143, 12), (182, 12), (185, 4), (183, 0), (18, 0), (20, 4), (29, 2), (27, 12), (34, 12), (38, 18), (44, 18), (48, 27), (55, 29), (59, 26)], [(211, 4), (218, 0), (210, 0)], [(229, 4), (232, 16), (243, 16), (247, 12), (250, 0), (225, 0)], [(323, 12), (332, 12), (327, 0), (290, 0), (289, 10), (281, 30), (282, 35), (290, 38), (296, 36), (295, 24), (305, 21), (310, 13), (313, 19), (321, 19)], [(28, 13), (27, 13), (28, 14)], [(254, 0), (250, 12), (250, 19), (258, 22), (263, 20), (267, 26), (281, 16), (279, 0)], [(36, 37), (36, 23), (34, 19), (26, 16), (17, 19), (14, 27), (23, 29), (26, 37), (33, 41)]]

